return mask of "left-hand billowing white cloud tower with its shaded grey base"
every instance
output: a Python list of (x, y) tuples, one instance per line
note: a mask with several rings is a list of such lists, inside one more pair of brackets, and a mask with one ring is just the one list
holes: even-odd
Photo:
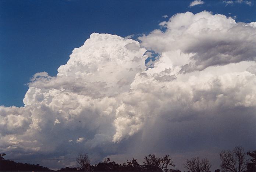
[(146, 70), (145, 51), (134, 40), (93, 33), (58, 68), (57, 76), (33, 76), (25, 107), (0, 107), (0, 150), (47, 154), (76, 140), (80, 144), (70, 149), (74, 153), (111, 142), (119, 96), (129, 91), (137, 73)]

